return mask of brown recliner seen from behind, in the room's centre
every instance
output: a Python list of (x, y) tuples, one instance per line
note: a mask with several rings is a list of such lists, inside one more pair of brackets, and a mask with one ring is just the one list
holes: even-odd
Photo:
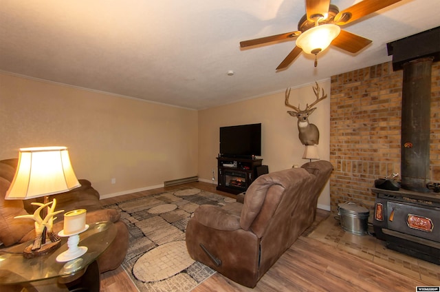
[(186, 227), (191, 258), (244, 286), (254, 287), (316, 215), (318, 196), (333, 167), (325, 160), (257, 178), (244, 203), (202, 205)]

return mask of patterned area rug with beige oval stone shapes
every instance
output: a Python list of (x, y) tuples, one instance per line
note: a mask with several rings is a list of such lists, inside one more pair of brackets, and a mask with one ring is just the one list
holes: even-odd
[(119, 209), (129, 227), (129, 251), (122, 267), (137, 289), (186, 292), (214, 274), (188, 255), (186, 225), (199, 205), (222, 207), (235, 201), (187, 188), (105, 206)]

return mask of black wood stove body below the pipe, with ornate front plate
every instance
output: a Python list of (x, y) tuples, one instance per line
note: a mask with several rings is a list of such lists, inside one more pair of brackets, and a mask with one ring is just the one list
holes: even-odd
[(440, 194), (372, 189), (373, 228), (389, 249), (440, 264)]

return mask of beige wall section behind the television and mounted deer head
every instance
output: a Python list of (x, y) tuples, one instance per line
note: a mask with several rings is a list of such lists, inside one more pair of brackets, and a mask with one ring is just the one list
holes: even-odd
[[(330, 133), (330, 81), (320, 81), (328, 97), (318, 103), (317, 110), (311, 114), (309, 121), (320, 130), (318, 151), (321, 159), (329, 160)], [(312, 87), (314, 84), (292, 89), (290, 103), (301, 105), (315, 100)], [(284, 104), (285, 93), (279, 92), (261, 98), (241, 101), (221, 107), (212, 107), (199, 111), (199, 178), (212, 182), (214, 170), (217, 183), (217, 155), (219, 154), (219, 127), (262, 123), (263, 164), (269, 171), (287, 169), (292, 165), (303, 165), (304, 146), (298, 138), (297, 118), (287, 114), (290, 110)], [(318, 200), (318, 207), (330, 209), (329, 186), (325, 188)]]

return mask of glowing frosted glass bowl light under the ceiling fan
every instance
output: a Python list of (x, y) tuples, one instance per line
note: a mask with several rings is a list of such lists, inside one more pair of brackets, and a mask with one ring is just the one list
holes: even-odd
[(327, 49), (341, 28), (336, 24), (322, 24), (309, 28), (296, 39), (296, 45), (307, 54), (318, 54)]

